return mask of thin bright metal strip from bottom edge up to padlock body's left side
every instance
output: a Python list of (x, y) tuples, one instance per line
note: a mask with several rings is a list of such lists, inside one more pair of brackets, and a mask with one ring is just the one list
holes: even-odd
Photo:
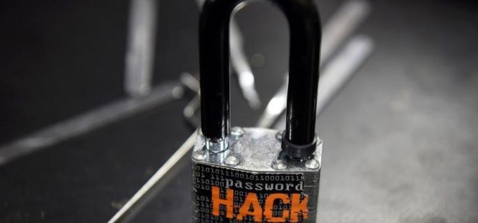
[(126, 204), (121, 207), (121, 209), (111, 218), (108, 223), (113, 223), (113, 222), (121, 222), (126, 220), (128, 217), (128, 213), (132, 212), (133, 209), (135, 209), (136, 206), (140, 206), (141, 201), (143, 201), (144, 198), (146, 198), (151, 190), (154, 190), (154, 187), (157, 186), (158, 182), (167, 174), (168, 171), (170, 171), (174, 165), (181, 160), (188, 151), (191, 150), (191, 148), (194, 146), (194, 143), (196, 141), (196, 132), (191, 134), (188, 139), (184, 142), (184, 144), (181, 145), (181, 147), (178, 148), (176, 152), (163, 164), (156, 173), (149, 178), (147, 183), (145, 183), (140, 190), (136, 192), (131, 199), (126, 202)]

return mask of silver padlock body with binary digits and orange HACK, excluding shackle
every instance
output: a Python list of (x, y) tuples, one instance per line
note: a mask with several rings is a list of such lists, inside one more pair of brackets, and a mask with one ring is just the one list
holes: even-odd
[[(238, 133), (239, 132), (239, 133)], [(281, 153), (281, 132), (232, 128), (228, 148), (208, 151), (197, 134), (193, 148), (193, 222), (315, 222), (322, 141), (313, 156)]]

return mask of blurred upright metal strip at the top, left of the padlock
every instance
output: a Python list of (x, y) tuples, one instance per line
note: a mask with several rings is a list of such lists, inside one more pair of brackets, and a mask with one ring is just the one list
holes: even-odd
[(156, 0), (131, 1), (124, 87), (133, 97), (144, 96), (151, 91), (157, 4)]

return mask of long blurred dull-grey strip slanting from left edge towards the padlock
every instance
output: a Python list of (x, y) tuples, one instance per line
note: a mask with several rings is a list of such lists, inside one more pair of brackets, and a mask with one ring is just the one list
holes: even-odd
[(183, 89), (179, 87), (179, 84), (161, 84), (146, 97), (126, 98), (113, 102), (68, 121), (52, 125), (10, 144), (0, 146), (0, 165), (6, 164), (22, 155), (38, 151), (41, 148), (59, 144), (66, 139), (164, 105), (174, 98), (180, 98), (182, 91)]

